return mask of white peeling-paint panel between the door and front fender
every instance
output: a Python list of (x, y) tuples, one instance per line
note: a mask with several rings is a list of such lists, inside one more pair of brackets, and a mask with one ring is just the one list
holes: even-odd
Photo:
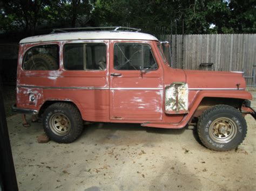
[(165, 111), (176, 112), (188, 110), (187, 83), (174, 82), (165, 88)]

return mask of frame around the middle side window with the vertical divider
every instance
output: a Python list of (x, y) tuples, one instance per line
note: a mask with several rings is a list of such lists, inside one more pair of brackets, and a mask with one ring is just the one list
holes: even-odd
[[(104, 44), (105, 45), (105, 47), (106, 47), (106, 68), (105, 69), (76, 69), (76, 70), (73, 70), (73, 69), (66, 69), (65, 68), (65, 46), (66, 45), (72, 45), (72, 44), (82, 44), (82, 45), (84, 45), (84, 44)], [(107, 70), (107, 50), (108, 50), (108, 47), (107, 47), (107, 43), (105, 43), (105, 42), (102, 42), (102, 41), (100, 41), (100, 42), (72, 42), (72, 43), (70, 43), (70, 42), (68, 42), (68, 43), (65, 43), (64, 45), (63, 45), (63, 51), (62, 51), (62, 54), (63, 54), (63, 70), (64, 71), (79, 71), (79, 72), (81, 72), (81, 71), (106, 71)]]

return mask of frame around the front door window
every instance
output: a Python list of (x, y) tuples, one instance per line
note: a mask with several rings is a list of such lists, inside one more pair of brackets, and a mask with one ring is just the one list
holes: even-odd
[[(115, 46), (116, 44), (140, 44), (140, 45), (147, 45), (147, 46), (149, 46), (150, 52), (151, 52), (151, 54), (152, 54), (152, 56), (153, 56), (153, 59), (154, 59), (155, 63), (157, 64), (157, 68), (156, 68), (156, 69), (144, 69), (144, 68), (142, 68), (142, 70), (156, 71), (156, 70), (159, 69), (159, 64), (157, 63), (156, 56), (154, 56), (154, 53), (152, 52), (152, 46), (151, 46), (151, 44), (149, 44), (149, 43), (144, 43), (144, 42), (137, 42), (137, 41), (134, 41), (134, 42), (129, 41), (129, 42), (114, 42), (114, 43), (113, 43), (113, 69), (114, 69), (114, 70), (117, 70), (117, 71), (140, 71), (140, 69), (128, 70), (128, 69), (116, 69), (116, 68), (114, 68), (114, 46)], [(143, 58), (144, 58), (144, 56), (143, 56)], [(141, 66), (144, 67), (144, 63), (142, 63)]]

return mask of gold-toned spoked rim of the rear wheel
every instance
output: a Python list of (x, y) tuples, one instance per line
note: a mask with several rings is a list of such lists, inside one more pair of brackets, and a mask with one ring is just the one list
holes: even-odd
[(71, 129), (70, 120), (64, 114), (53, 114), (50, 118), (50, 128), (56, 135), (65, 136)]

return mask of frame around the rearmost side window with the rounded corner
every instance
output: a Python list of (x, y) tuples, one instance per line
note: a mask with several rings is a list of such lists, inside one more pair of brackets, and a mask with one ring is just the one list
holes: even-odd
[[(24, 69), (24, 62), (25, 62), (25, 58), (26, 58), (26, 54), (32, 49), (32, 48), (35, 48), (35, 47), (38, 47), (38, 46), (48, 46), (48, 45), (53, 45), (53, 46), (57, 46), (57, 53), (58, 53), (58, 55), (57, 55), (57, 63), (58, 63), (58, 68), (57, 69), (52, 69), (52, 70), (36, 70), (36, 69), (34, 69), (34, 70), (31, 70), (31, 69)], [(31, 46), (31, 47), (29, 47), (28, 49), (26, 49), (26, 51), (25, 51), (25, 53), (23, 54), (23, 58), (22, 58), (22, 65), (21, 65), (21, 69), (23, 70), (23, 71), (57, 71), (57, 70), (59, 70), (60, 69), (60, 46), (59, 46), (59, 44), (57, 44), (57, 43), (50, 43), (50, 44), (37, 44), (37, 45), (35, 45), (35, 46)]]

